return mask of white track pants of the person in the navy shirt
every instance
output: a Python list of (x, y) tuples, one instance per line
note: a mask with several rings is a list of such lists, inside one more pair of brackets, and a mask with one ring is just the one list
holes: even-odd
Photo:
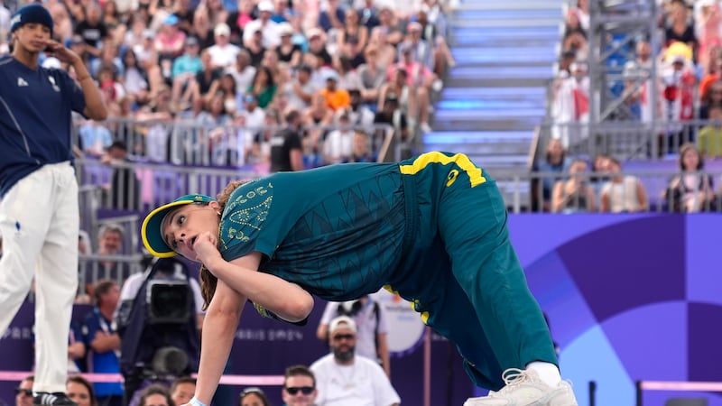
[(78, 183), (69, 162), (45, 165), (0, 201), (0, 336), (35, 276), (35, 392), (65, 392), (78, 290)]

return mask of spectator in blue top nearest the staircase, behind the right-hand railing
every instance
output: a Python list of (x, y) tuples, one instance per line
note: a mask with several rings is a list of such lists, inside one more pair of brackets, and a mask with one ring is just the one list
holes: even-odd
[(534, 163), (533, 172), (539, 177), (532, 178), (532, 211), (551, 211), (551, 189), (562, 173), (569, 171), (571, 161), (558, 138), (552, 138), (547, 145), (543, 161)]

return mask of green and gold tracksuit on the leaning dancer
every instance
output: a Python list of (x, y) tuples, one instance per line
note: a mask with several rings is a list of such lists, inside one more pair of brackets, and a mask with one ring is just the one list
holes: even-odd
[(260, 271), (325, 300), (394, 291), (497, 390), (506, 368), (557, 363), (509, 241), (495, 181), (464, 154), (281, 172), (236, 189), (221, 254), (258, 251)]

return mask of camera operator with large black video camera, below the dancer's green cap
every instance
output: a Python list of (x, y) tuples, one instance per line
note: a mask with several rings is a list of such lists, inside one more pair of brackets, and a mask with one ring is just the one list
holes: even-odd
[(120, 369), (128, 405), (148, 383), (197, 372), (203, 301), (188, 265), (176, 258), (151, 262), (125, 282), (120, 296)]

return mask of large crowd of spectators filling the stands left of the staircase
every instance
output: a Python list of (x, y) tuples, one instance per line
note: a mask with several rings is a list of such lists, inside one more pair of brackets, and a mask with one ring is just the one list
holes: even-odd
[[(306, 166), (347, 160), (346, 134), (323, 145), (343, 120), (372, 136), (375, 125), (394, 126), (404, 139), (430, 131), (431, 95), (454, 63), (437, 0), (42, 4), (54, 36), (86, 61), (110, 111), (103, 124), (78, 117), (79, 150), (91, 157), (122, 140), (132, 155), (168, 161), (168, 138), (180, 128), (186, 150), (214, 158), (173, 163), (269, 161), (262, 128), (284, 127), (296, 110)], [(9, 15), (17, 6), (0, 2), (0, 54), (12, 46)], [(51, 54), (42, 65), (67, 68)], [(156, 125), (139, 125), (149, 122)]]

